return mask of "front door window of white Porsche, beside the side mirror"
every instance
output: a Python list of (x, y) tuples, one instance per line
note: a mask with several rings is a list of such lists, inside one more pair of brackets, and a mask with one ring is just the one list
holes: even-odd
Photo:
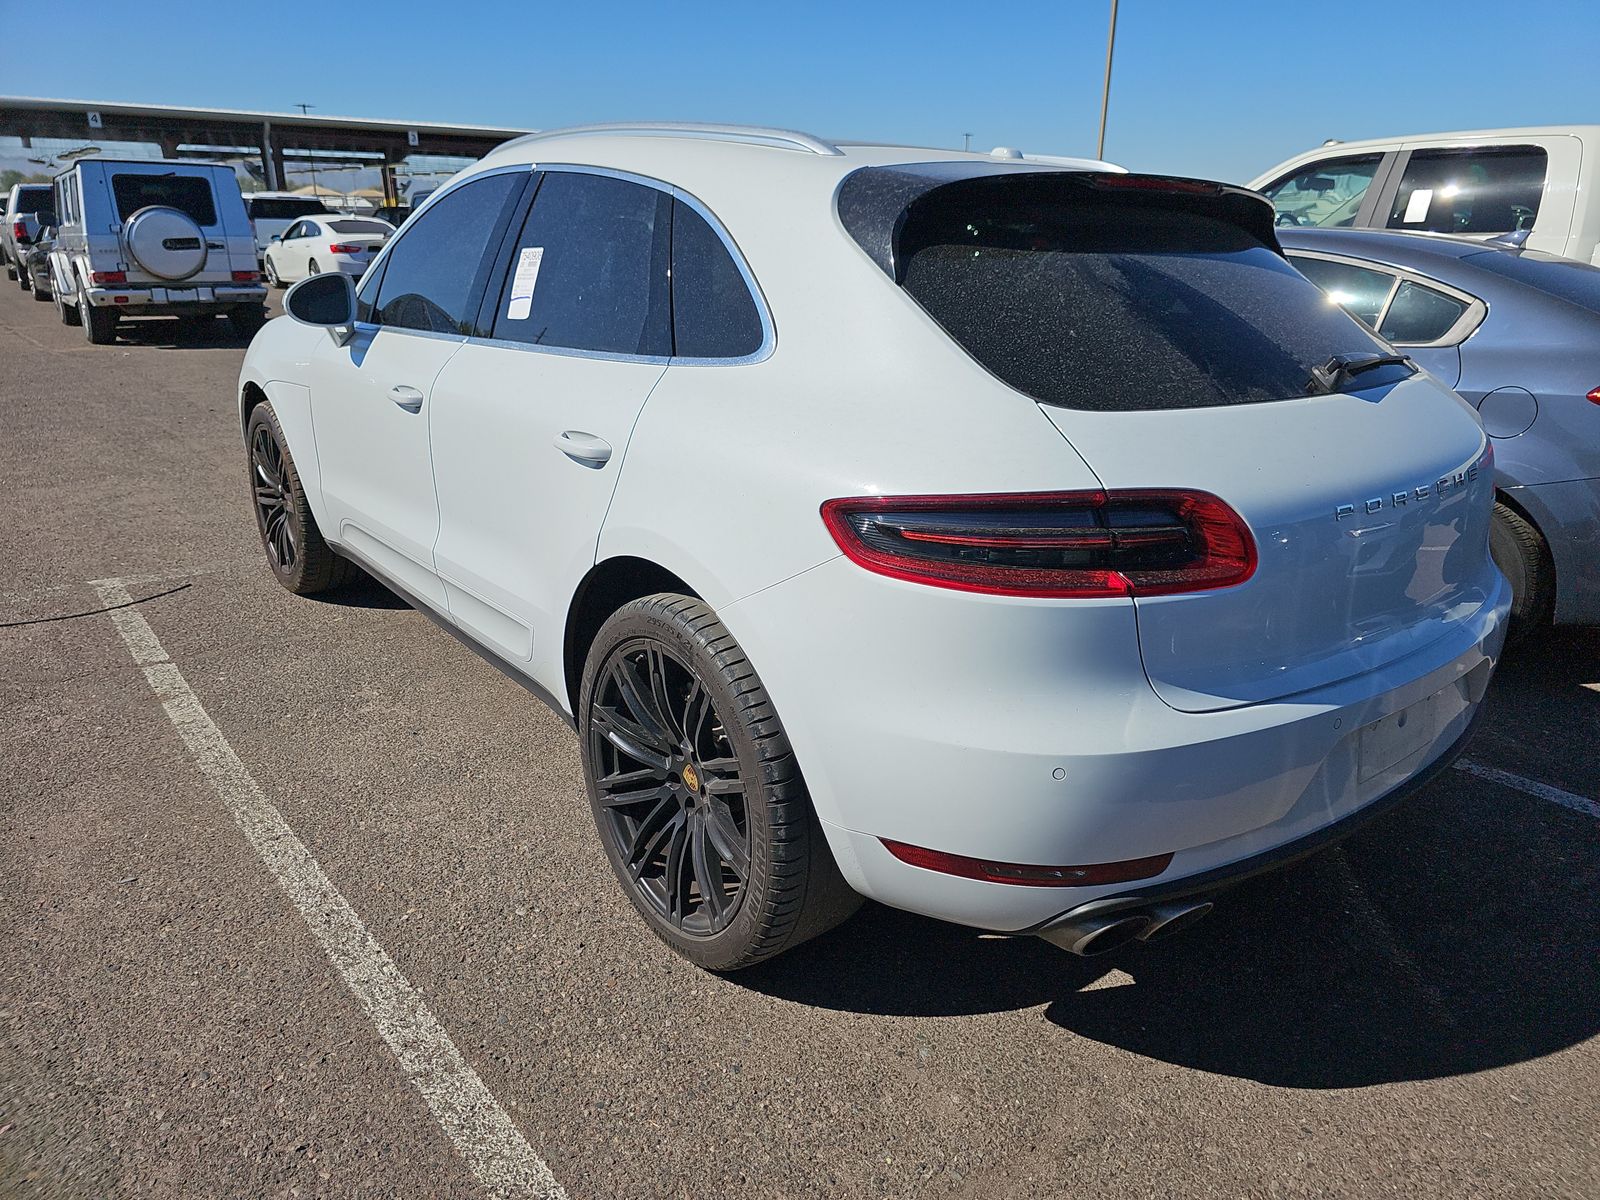
[(389, 253), (378, 290), (379, 325), (470, 333), (491, 238), (525, 176), (491, 174), (458, 187), (418, 219)]

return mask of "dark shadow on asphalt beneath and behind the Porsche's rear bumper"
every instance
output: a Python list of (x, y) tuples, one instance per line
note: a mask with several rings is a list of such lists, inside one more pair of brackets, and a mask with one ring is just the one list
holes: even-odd
[(1085, 960), (869, 906), (733, 979), (874, 1014), (1043, 1005), (1078, 1037), (1278, 1086), (1437, 1078), (1600, 1032), (1600, 843), (1587, 816), (1450, 773), (1171, 941)]

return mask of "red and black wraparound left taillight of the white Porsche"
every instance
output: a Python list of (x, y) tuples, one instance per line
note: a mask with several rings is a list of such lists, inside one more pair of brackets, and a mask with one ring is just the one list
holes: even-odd
[(1256, 570), (1250, 526), (1205, 491), (858, 496), (822, 520), (869, 571), (989, 595), (1171, 595)]

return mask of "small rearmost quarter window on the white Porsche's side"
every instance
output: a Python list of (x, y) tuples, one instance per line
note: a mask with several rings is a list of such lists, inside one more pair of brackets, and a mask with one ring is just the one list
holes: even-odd
[(742, 358), (762, 349), (762, 314), (733, 254), (706, 219), (672, 202), (672, 352)]

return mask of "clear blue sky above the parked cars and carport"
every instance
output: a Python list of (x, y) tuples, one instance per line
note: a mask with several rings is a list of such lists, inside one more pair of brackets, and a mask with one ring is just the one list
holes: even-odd
[[(138, 8), (53, 5), (102, 35), (5, 38), (0, 93), (1091, 154), (1109, 0)], [(32, 10), (0, 0), (6, 27)], [(1600, 0), (1122, 0), (1106, 157), (1243, 181), (1325, 138), (1594, 122), (1597, 59)]]

